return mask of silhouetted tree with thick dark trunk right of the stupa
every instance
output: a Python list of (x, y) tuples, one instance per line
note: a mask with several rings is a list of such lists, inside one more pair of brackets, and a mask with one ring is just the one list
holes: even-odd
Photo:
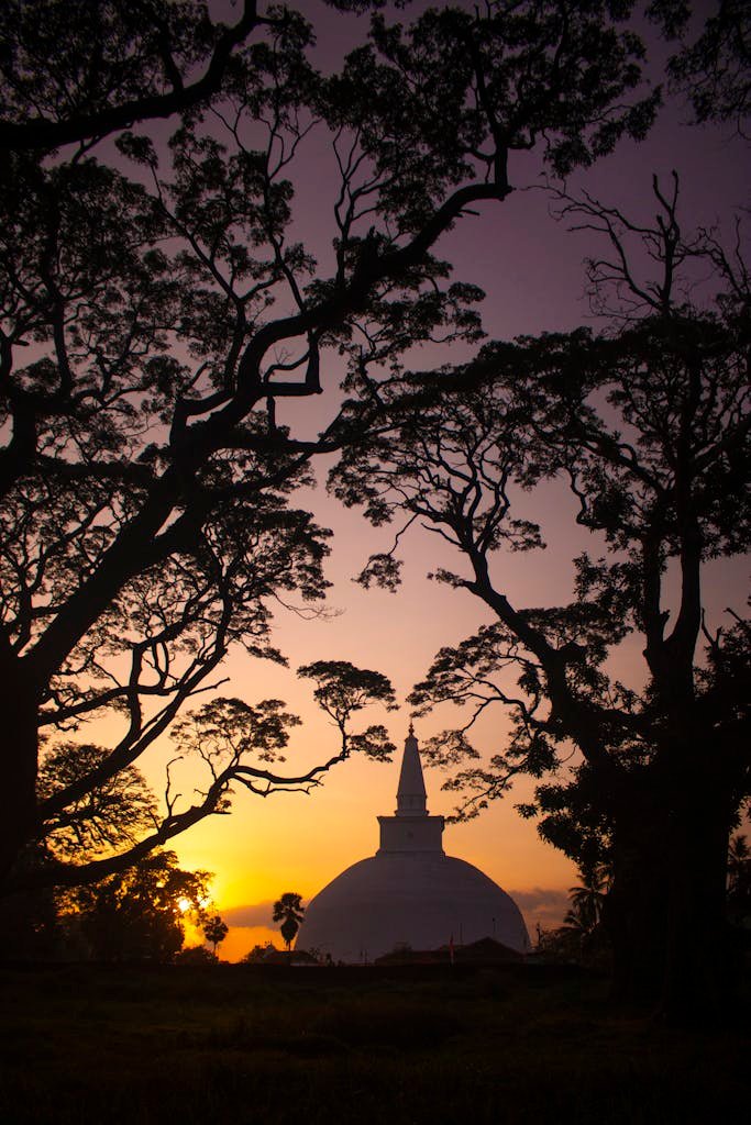
[[(558, 807), (549, 838), (611, 861), (618, 989), (679, 1015), (722, 1002), (727, 839), (749, 794), (750, 630), (734, 611), (710, 630), (703, 583), (710, 560), (749, 541), (751, 300), (742, 259), (707, 234), (681, 235), (677, 179), (654, 192), (650, 227), (592, 199), (564, 200), (613, 250), (590, 263), (607, 333), (490, 344), (432, 382), (394, 379), (381, 408), (393, 403), (399, 432), (346, 452), (332, 487), (374, 522), (419, 520), (458, 550), (465, 569), (436, 577), (495, 620), (441, 649), (414, 690), (419, 711), (453, 701), (472, 712), (432, 754), (458, 766), (448, 785), (471, 790), (472, 814), (516, 775), (543, 778), (579, 752), (569, 782), (540, 794), (544, 810)], [(659, 262), (658, 277), (642, 279), (631, 238)], [(717, 271), (722, 290), (705, 308), (686, 296), (697, 264)], [(549, 480), (570, 486), (596, 554), (574, 559), (570, 604), (518, 606), (500, 552), (543, 546), (525, 498)], [(397, 576), (392, 551), (361, 580)], [(645, 686), (606, 664), (629, 637)], [(470, 729), (494, 704), (512, 732), (490, 763), (473, 764)]]

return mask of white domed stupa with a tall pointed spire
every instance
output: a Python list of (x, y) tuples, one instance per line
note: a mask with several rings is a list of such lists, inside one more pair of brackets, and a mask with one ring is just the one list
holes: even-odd
[(378, 817), (381, 847), (311, 901), (297, 945), (346, 964), (375, 961), (400, 945), (437, 950), (490, 937), (526, 953), (527, 927), (513, 899), (464, 860), (446, 855), (444, 818), (426, 807), (412, 727), (404, 742), (396, 811)]

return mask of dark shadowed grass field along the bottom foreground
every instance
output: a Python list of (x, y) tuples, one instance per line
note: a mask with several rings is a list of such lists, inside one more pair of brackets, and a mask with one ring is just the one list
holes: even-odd
[[(428, 968), (428, 966), (426, 966)], [(616, 1016), (531, 966), (0, 970), (0, 1123), (703, 1123), (749, 1104), (749, 1023)]]

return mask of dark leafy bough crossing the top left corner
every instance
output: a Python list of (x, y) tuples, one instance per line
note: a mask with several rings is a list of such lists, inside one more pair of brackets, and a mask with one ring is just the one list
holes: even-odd
[(209, 102), (240, 46), (259, 29), (284, 27), (283, 8), (258, 7), (243, 0), (226, 26), (212, 21), (203, 0), (7, 0), (0, 148), (48, 152)]

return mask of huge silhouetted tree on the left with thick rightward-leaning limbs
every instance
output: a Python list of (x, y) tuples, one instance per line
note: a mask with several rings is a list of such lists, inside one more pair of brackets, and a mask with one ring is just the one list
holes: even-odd
[[(642, 45), (605, 0), (447, 7), (409, 28), (377, 17), (325, 78), (292, 9), (248, 3), (223, 28), (198, 2), (11, 8), (0, 32), (6, 886), (25, 874), (29, 840), (216, 686), (230, 648), (281, 659), (271, 605), (323, 597), (328, 532), (293, 501), (342, 431), (296, 438), (279, 404), (318, 395), (339, 354), (368, 399), (370, 361), (475, 339), (481, 294), (431, 256), (441, 234), (507, 198), (515, 151), (539, 145), (558, 172), (587, 165), (624, 133), (643, 135), (656, 101), (628, 104)], [(178, 115), (169, 145), (143, 124), (166, 114)], [(313, 130), (338, 169), (321, 266), (295, 226)], [(105, 718), (106, 757), (41, 799), (39, 731)], [(196, 801), (170, 793), (132, 847), (36, 878), (100, 878), (225, 809), (244, 767), (230, 755), (214, 776), (203, 764)]]

